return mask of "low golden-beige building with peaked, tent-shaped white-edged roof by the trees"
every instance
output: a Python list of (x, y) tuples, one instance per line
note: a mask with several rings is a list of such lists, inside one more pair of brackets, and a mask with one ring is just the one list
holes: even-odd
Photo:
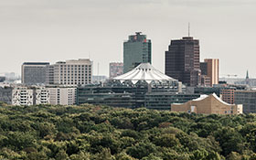
[(203, 114), (240, 114), (242, 113), (242, 104), (229, 104), (213, 93), (211, 95), (201, 95), (200, 98), (186, 103), (172, 104), (171, 111)]

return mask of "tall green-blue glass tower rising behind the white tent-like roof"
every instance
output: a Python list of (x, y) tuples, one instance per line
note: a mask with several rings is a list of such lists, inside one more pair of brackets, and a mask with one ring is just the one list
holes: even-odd
[(136, 32), (123, 43), (123, 73), (140, 63), (151, 63), (151, 40), (141, 35), (141, 32)]

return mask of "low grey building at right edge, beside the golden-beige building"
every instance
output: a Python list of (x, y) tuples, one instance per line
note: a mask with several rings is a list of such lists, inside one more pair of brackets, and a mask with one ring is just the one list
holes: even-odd
[(256, 91), (235, 91), (234, 101), (243, 105), (244, 113), (256, 112)]

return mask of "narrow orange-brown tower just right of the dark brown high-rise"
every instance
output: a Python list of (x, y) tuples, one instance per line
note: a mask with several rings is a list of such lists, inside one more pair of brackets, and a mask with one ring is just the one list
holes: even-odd
[(205, 59), (208, 64), (208, 74), (210, 86), (219, 84), (219, 59)]

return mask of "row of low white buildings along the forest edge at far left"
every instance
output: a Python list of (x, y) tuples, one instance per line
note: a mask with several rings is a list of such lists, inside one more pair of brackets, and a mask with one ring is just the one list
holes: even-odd
[(12, 105), (73, 105), (76, 104), (77, 88), (64, 86), (2, 86), (0, 101)]

